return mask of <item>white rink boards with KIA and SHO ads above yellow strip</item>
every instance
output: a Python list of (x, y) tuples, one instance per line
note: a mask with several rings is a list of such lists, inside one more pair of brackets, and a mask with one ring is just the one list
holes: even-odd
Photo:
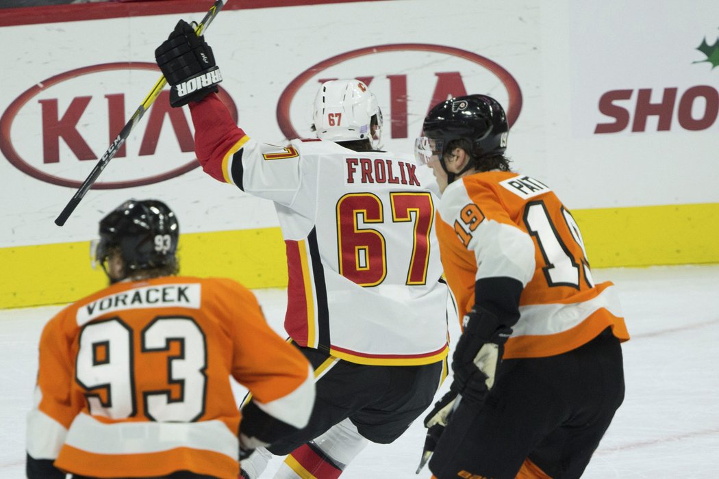
[[(333, 78), (370, 85), (385, 118), (381, 144), (400, 154), (412, 153), (435, 103), (484, 93), (508, 113), (513, 167), (551, 185), (569, 208), (717, 202), (718, 21), (704, 2), (667, 2), (651, 14), (645, 6), (303, 4), (223, 11), (206, 39), (223, 101), (259, 141), (312, 137), (316, 90)], [(54, 225), (159, 78), (155, 47), (178, 17), (202, 14), (4, 27), (24, 41), (4, 53), (14, 68), (0, 89), (0, 187), (15, 210), (0, 210), (11, 225), (0, 247), (89, 239), (99, 213), (127, 197), (173, 203), (185, 231), (277, 226), (271, 203), (201, 171), (188, 108), (170, 108), (167, 90), (65, 227)], [(659, 17), (673, 19), (661, 34)]]

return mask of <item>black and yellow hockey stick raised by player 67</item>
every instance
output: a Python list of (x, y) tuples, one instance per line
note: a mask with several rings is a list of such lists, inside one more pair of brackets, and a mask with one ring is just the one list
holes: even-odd
[[(198, 37), (205, 32), (207, 27), (210, 26), (212, 20), (216, 17), (217, 14), (219, 14), (219, 11), (222, 9), (222, 6), (224, 6), (223, 0), (216, 0), (215, 3), (210, 7), (209, 11), (207, 11), (207, 14), (202, 19), (200, 24), (195, 29), (196, 34)], [(132, 117), (130, 117), (129, 121), (125, 126), (122, 127), (122, 130), (120, 130), (120, 134), (117, 135), (117, 138), (112, 141), (110, 144), (110, 147), (107, 149), (105, 154), (102, 155), (102, 157), (99, 159), (99, 161), (95, 164), (95, 167), (93, 167), (92, 171), (90, 172), (90, 175), (85, 179), (82, 185), (78, 188), (78, 190), (75, 192), (75, 195), (73, 195), (72, 198), (70, 198), (70, 201), (67, 205), (65, 205), (65, 208), (60, 212), (60, 215), (58, 215), (58, 218), (55, 218), (55, 224), (58, 226), (62, 226), (65, 224), (65, 221), (70, 218), (70, 215), (73, 214), (73, 211), (75, 211), (75, 208), (77, 208), (78, 204), (80, 204), (80, 200), (83, 199), (86, 192), (94, 185), (97, 178), (100, 176), (100, 173), (103, 169), (107, 166), (107, 164), (110, 162), (110, 160), (115, 156), (117, 153), (117, 150), (122, 147), (122, 144), (125, 142), (127, 137), (130, 135), (130, 131), (134, 128), (134, 126), (137, 124), (137, 122), (142, 118), (142, 115), (145, 114), (145, 112), (150, 108), (152, 103), (155, 102), (157, 99), (157, 96), (160, 95), (160, 92), (162, 91), (162, 88), (165, 88), (165, 85), (168, 84), (168, 80), (165, 80), (165, 77), (160, 77), (160, 80), (157, 80), (157, 83), (155, 83), (155, 86), (152, 87), (152, 90), (150, 93), (147, 94), (145, 97), (145, 100), (142, 101), (139, 107), (137, 107), (137, 110), (132, 114)]]

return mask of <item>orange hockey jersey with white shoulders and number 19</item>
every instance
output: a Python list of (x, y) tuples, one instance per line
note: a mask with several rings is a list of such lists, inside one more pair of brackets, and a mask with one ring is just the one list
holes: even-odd
[(606, 327), (629, 339), (615, 287), (595, 284), (580, 228), (544, 183), (515, 172), (468, 175), (446, 188), (437, 218), (459, 317), (475, 304), (479, 279), (524, 285), (504, 358), (564, 353)]

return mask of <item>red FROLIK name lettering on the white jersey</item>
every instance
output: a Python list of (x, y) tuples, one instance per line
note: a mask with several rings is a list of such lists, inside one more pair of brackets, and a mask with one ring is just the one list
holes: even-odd
[(416, 175), (416, 165), (382, 158), (345, 158), (347, 177), (345, 185), (359, 183), (389, 183), (390, 185), (421, 186)]

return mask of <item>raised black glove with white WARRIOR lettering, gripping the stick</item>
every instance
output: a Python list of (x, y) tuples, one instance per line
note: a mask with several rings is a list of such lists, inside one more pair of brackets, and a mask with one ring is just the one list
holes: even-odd
[(155, 61), (170, 83), (170, 105), (187, 105), (217, 92), (222, 81), (212, 48), (204, 37), (180, 20), (170, 37), (155, 50)]

